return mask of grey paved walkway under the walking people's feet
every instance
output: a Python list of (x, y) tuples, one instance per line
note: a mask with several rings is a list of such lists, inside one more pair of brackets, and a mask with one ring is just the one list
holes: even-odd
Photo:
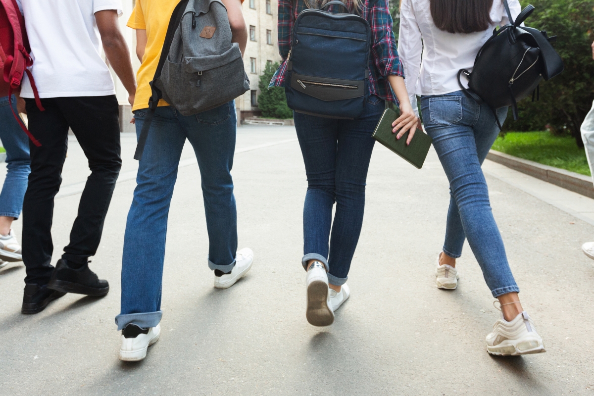
[[(484, 338), (498, 311), (468, 246), (459, 288), (434, 286), (449, 199), (437, 156), (431, 151), (416, 170), (376, 145), (349, 275), (352, 295), (331, 327), (315, 328), (305, 320), (307, 183), (292, 127), (239, 129), (233, 169), (239, 245), (254, 249), (255, 264), (223, 291), (213, 288), (207, 267), (200, 176), (186, 147), (169, 217), (162, 336), (143, 362), (119, 362), (113, 318), (135, 186), (134, 135), (123, 134), (122, 144), (124, 167), (91, 264), (110, 281), (108, 296), (68, 294), (25, 316), (23, 265), (0, 270), (1, 395), (592, 394), (594, 268), (580, 245), (594, 239), (594, 227), (581, 220), (586, 215), (576, 216), (594, 213), (594, 200), (573, 197), (585, 209), (571, 209), (573, 193), (485, 163), (522, 301), (547, 349), (491, 357)], [(54, 260), (68, 242), (85, 166), (72, 140), (56, 199)], [(18, 235), (20, 227), (17, 221)]]

